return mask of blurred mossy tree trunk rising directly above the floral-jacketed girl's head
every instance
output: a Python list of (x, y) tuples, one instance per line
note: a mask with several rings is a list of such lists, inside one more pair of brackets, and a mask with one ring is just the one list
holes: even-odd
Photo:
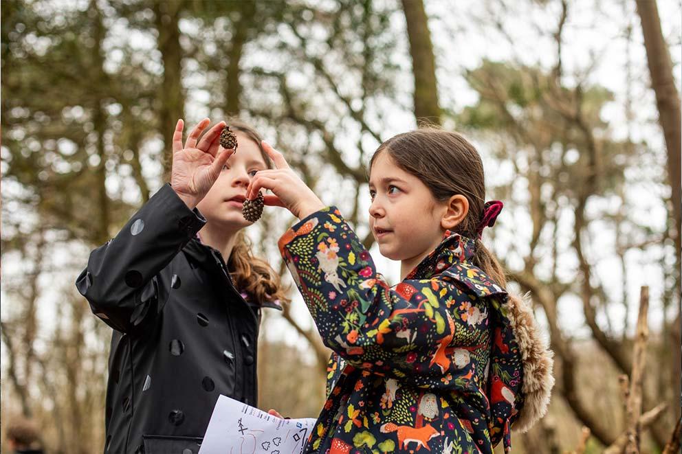
[(415, 76), (415, 117), (441, 124), (438, 105), (436, 63), (422, 0), (402, 0), (410, 40), (412, 73)]

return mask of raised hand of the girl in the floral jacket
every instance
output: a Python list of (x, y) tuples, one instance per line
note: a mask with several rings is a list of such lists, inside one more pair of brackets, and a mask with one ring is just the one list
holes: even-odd
[(262, 144), (275, 168), (259, 170), (256, 173), (246, 190), (246, 198), (252, 200), (256, 198), (261, 188), (269, 189), (274, 196), (265, 196), (265, 205), (285, 207), (299, 219), (327, 206), (298, 178), (294, 170), (289, 168), (281, 152), (272, 148), (266, 141)]

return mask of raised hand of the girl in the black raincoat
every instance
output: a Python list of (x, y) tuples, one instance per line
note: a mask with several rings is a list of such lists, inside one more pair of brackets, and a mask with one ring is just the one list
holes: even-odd
[(190, 209), (194, 209), (206, 196), (218, 179), (225, 161), (234, 153), (234, 150), (225, 150), (219, 146), (220, 132), (225, 127), (225, 122), (219, 122), (210, 128), (199, 141), (199, 136), (209, 123), (208, 118), (201, 120), (187, 137), (185, 146), (182, 146), (182, 120), (177, 120), (173, 133), (170, 186)]

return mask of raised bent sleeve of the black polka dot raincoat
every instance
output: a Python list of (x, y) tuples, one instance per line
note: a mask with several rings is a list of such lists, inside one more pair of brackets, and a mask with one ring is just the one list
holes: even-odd
[(115, 238), (90, 253), (76, 288), (111, 328), (137, 329), (153, 319), (173, 285), (173, 275), (160, 271), (205, 223), (164, 185)]

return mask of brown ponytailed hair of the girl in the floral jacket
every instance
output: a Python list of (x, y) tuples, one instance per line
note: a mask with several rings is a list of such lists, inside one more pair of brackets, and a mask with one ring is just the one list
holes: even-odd
[(474, 264), (500, 286), (506, 286), (502, 266), (478, 239), (478, 224), (485, 205), (485, 178), (476, 148), (461, 134), (431, 126), (419, 128), (384, 141), (369, 162), (370, 171), (384, 151), (399, 168), (421, 180), (437, 201), (446, 201), (455, 194), (467, 198), (469, 212), (454, 231), (476, 242)]

